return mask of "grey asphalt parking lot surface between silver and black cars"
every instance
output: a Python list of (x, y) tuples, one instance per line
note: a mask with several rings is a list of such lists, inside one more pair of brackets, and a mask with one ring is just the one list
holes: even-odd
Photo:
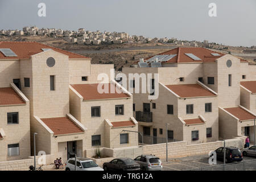
[[(244, 156), (243, 160), (254, 160), (256, 158)], [(168, 162), (162, 160), (163, 171), (185, 171), (195, 168), (211, 167), (213, 164), (209, 164), (208, 155), (196, 155), (188, 156), (184, 158), (172, 158)], [(217, 165), (223, 164), (223, 162), (217, 160)]]

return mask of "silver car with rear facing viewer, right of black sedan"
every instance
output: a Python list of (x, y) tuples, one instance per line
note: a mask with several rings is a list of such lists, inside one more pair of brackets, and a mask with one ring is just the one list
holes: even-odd
[(142, 171), (162, 171), (162, 162), (155, 155), (140, 155), (134, 159), (140, 166)]

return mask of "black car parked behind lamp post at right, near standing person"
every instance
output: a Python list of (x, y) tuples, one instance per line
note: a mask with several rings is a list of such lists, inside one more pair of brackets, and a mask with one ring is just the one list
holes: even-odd
[[(233, 161), (240, 162), (243, 160), (243, 156), (239, 148), (237, 147), (225, 147), (226, 148), (226, 156), (225, 156), (225, 162), (230, 163)], [(217, 160), (224, 160), (224, 147), (217, 148), (215, 150), (217, 154)]]

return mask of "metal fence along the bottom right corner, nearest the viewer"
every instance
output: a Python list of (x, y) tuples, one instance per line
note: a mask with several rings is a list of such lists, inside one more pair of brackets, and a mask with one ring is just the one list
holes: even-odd
[(210, 167), (196, 168), (189, 171), (255, 171), (256, 159), (243, 160), (243, 162), (212, 165)]

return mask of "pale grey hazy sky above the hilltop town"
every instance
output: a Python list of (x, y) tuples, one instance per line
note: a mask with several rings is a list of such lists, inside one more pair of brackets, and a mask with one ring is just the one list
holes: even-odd
[[(39, 3), (46, 17), (38, 16)], [(216, 17), (208, 15), (209, 3), (216, 3)], [(255, 0), (0, 0), (0, 30), (85, 28), (256, 46), (255, 10)]]

